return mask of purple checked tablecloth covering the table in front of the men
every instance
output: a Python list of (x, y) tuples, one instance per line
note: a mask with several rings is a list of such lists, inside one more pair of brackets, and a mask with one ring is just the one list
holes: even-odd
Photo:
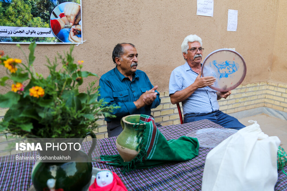
[[(216, 127), (222, 128), (205, 119), (182, 125), (168, 125), (158, 129), (166, 139), (178, 139), (196, 129)], [(116, 137), (100, 139), (98, 142), (101, 143), (102, 155), (118, 154), (115, 145)], [(83, 143), (82, 148), (87, 153), (89, 146), (86, 144)], [(199, 147), (199, 155), (192, 160), (173, 162), (151, 169), (137, 169), (125, 175), (120, 172), (121, 168), (114, 166), (97, 162), (93, 162), (93, 166), (101, 169), (107, 168), (118, 174), (127, 190), (201, 190), (204, 162), (210, 150), (211, 148)], [(0, 163), (0, 190), (28, 190), (32, 185), (33, 165), (31, 163)], [(287, 172), (287, 166), (284, 170)], [(287, 177), (281, 170), (278, 171), (278, 181), (274, 190), (287, 190)]]

